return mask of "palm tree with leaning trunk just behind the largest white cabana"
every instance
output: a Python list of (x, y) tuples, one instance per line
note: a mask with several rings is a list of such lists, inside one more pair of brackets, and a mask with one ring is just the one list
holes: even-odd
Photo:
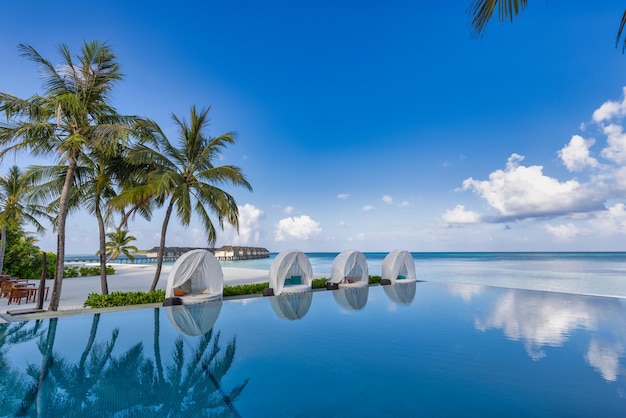
[(192, 213), (196, 213), (207, 233), (207, 242), (211, 245), (217, 235), (210, 213), (217, 215), (220, 228), (224, 227), (224, 220), (235, 228), (239, 226), (237, 203), (233, 196), (219, 186), (243, 186), (252, 190), (239, 167), (215, 165), (222, 149), (235, 143), (235, 135), (226, 133), (215, 138), (205, 136), (203, 131), (209, 122), (209, 110), (210, 107), (198, 112), (193, 106), (189, 122), (172, 115), (179, 130), (180, 147), (175, 147), (159, 126), (154, 124), (154, 146), (139, 144), (129, 155), (133, 164), (152, 163), (156, 167), (147, 174), (143, 184), (123, 191), (117, 203), (127, 206), (152, 199), (158, 205), (167, 204), (161, 228), (157, 270), (150, 291), (156, 289), (161, 275), (165, 235), (174, 208), (184, 226), (189, 225)]

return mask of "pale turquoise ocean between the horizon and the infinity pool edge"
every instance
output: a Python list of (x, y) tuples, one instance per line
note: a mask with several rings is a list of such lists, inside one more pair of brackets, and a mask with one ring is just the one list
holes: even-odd
[[(306, 253), (313, 272), (330, 276), (337, 252)], [(364, 252), (370, 275), (380, 275), (386, 252)], [(222, 267), (269, 270), (269, 258), (220, 262)], [(545, 290), (626, 298), (626, 252), (413, 252), (423, 281)], [(80, 259), (68, 255), (66, 259)], [(93, 257), (93, 256), (87, 256)], [(470, 288), (468, 288), (470, 289)]]

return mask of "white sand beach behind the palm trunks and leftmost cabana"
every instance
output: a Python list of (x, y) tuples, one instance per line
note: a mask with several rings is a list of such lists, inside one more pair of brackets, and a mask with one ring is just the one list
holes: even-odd
[[(79, 266), (96, 266), (97, 264), (90, 263), (68, 263), (68, 265)], [(120, 292), (147, 292), (154, 278), (156, 272), (156, 266), (154, 265), (140, 265), (140, 264), (111, 264), (115, 269), (115, 274), (107, 277), (107, 283), (109, 287), (109, 293)], [(172, 266), (163, 266), (161, 275), (157, 283), (157, 289), (165, 289), (167, 284), (167, 276)], [(263, 283), (269, 279), (268, 270), (259, 269), (244, 269), (244, 268), (222, 268), (224, 273), (224, 284), (238, 285), (248, 283)], [(46, 286), (50, 288), (50, 295), (52, 294), (53, 281), (48, 280)], [(61, 301), (59, 303), (59, 311), (71, 311), (77, 309), (83, 309), (83, 304), (90, 293), (101, 293), (100, 277), (73, 277), (63, 280), (63, 287), (61, 289)], [(50, 296), (49, 295), (49, 296)], [(50, 303), (50, 298), (44, 302), (43, 308), (47, 309)], [(36, 302), (29, 302), (21, 304), (11, 303), (8, 304), (7, 298), (0, 298), (0, 314), (6, 314), (7, 311), (33, 309), (36, 307)]]

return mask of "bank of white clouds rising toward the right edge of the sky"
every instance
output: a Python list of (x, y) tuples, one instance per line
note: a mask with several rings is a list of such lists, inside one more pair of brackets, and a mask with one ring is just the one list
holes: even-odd
[[(488, 179), (463, 181), (459, 191), (470, 191), (487, 204), (479, 213), (456, 205), (441, 215), (446, 225), (469, 225), (541, 220), (555, 241), (581, 236), (626, 235), (626, 87), (621, 101), (607, 101), (592, 115), (596, 138), (572, 135), (556, 150), (559, 165), (580, 177), (559, 179), (541, 165), (524, 165), (513, 153), (504, 168)], [(585, 126), (584, 124), (582, 125)], [(558, 167), (557, 167), (558, 168)], [(559, 223), (558, 220), (561, 220)]]

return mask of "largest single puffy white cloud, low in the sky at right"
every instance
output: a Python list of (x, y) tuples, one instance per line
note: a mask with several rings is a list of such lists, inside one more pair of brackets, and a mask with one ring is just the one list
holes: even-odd
[(539, 165), (523, 166), (519, 154), (509, 157), (506, 169), (496, 170), (489, 180), (468, 178), (463, 190), (472, 190), (503, 217), (528, 218), (587, 212), (600, 207), (591, 189), (576, 180), (559, 182), (543, 174)]

